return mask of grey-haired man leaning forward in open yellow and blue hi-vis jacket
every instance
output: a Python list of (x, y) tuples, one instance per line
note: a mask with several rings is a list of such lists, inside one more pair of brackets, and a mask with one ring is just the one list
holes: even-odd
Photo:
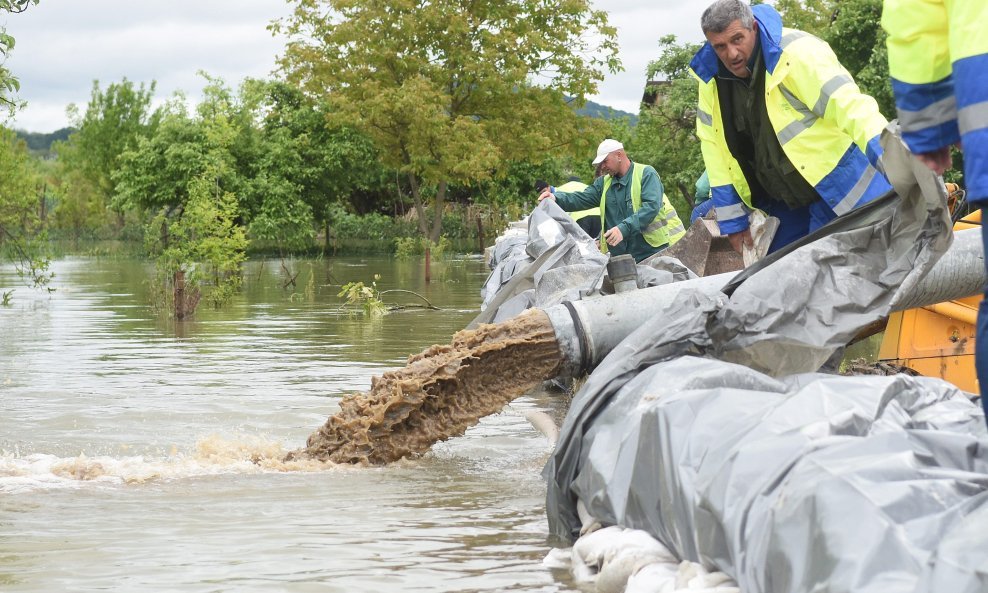
[(717, 0), (700, 25), (697, 136), (735, 249), (751, 242), (753, 208), (779, 219), (775, 251), (891, 189), (878, 144), (888, 122), (829, 45), (783, 28), (767, 4)]

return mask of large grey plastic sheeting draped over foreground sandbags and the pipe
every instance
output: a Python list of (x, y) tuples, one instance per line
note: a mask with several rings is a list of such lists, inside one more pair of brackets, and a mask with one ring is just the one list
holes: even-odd
[[(816, 372), (946, 250), (940, 182), (883, 135), (900, 200), (842, 217), (635, 331), (576, 394), (545, 469), (582, 504), (745, 592), (988, 591), (988, 433), (943, 381)], [(831, 233), (831, 234), (826, 234)]]

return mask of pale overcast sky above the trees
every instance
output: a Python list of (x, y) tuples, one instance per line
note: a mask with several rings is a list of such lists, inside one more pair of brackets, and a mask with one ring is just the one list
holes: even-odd
[[(591, 100), (637, 113), (645, 69), (658, 39), (699, 41), (703, 0), (594, 0), (618, 29), (624, 72), (609, 75)], [(283, 0), (41, 0), (6, 16), (17, 45), (6, 66), (21, 81), (28, 106), (8, 127), (52, 132), (68, 125), (65, 108), (85, 108), (94, 80), (101, 88), (127, 78), (157, 81), (159, 101), (183, 91), (197, 102), (200, 70), (237, 86), (267, 77), (284, 40), (266, 26), (288, 15)]]

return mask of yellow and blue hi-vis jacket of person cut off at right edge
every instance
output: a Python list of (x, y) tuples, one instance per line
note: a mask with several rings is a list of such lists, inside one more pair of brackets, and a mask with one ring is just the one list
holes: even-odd
[(968, 199), (988, 200), (988, 2), (885, 0), (889, 73), (913, 152), (960, 141)]

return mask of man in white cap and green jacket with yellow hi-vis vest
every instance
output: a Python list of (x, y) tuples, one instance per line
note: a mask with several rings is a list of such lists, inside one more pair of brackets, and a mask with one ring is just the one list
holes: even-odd
[(575, 192), (547, 187), (539, 201), (555, 200), (567, 212), (600, 206), (605, 229), (601, 251), (627, 253), (635, 261), (658, 253), (686, 233), (663, 193), (659, 174), (649, 165), (632, 162), (620, 142), (610, 138), (601, 142), (593, 164), (603, 173), (593, 185)]

